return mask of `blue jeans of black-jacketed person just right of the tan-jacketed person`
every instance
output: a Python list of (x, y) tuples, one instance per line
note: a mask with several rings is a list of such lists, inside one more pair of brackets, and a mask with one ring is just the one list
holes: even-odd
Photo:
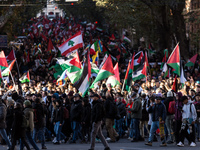
[(40, 129), (36, 129), (36, 128), (33, 129), (33, 139), (35, 140), (35, 142), (36, 142), (37, 135), (39, 136), (38, 138), (41, 140), (42, 147), (44, 147), (45, 146), (45, 127), (40, 128)]

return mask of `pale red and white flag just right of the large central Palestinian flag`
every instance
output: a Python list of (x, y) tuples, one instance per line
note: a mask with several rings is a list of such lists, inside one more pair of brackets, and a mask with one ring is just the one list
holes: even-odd
[(111, 84), (112, 87), (115, 87), (116, 85), (120, 85), (120, 77), (119, 77), (119, 67), (118, 67), (118, 63), (116, 63), (115, 67), (114, 67), (114, 73), (115, 75), (110, 76), (106, 82), (106, 84)]

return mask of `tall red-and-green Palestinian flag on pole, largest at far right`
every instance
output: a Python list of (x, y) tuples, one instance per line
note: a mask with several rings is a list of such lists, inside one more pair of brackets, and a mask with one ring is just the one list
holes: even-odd
[(174, 73), (176, 73), (178, 76), (180, 76), (180, 49), (179, 49), (179, 44), (176, 45), (173, 52), (169, 56), (167, 64), (170, 67), (175, 69)]

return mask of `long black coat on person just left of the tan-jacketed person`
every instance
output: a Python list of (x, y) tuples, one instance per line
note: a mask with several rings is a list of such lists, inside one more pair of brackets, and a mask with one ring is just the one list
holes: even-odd
[(22, 127), (23, 115), (24, 113), (20, 108), (15, 109), (15, 116), (12, 124), (12, 137), (17, 140), (26, 135), (26, 129)]

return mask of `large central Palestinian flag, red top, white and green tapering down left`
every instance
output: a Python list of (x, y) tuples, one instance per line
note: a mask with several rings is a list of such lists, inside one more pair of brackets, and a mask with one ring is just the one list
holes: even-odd
[(113, 64), (111, 56), (109, 55), (106, 59), (105, 63), (103, 64), (101, 70), (99, 71), (97, 77), (95, 78), (94, 82), (90, 86), (90, 88), (94, 88), (94, 84), (98, 81), (108, 78), (109, 76), (114, 75)]

